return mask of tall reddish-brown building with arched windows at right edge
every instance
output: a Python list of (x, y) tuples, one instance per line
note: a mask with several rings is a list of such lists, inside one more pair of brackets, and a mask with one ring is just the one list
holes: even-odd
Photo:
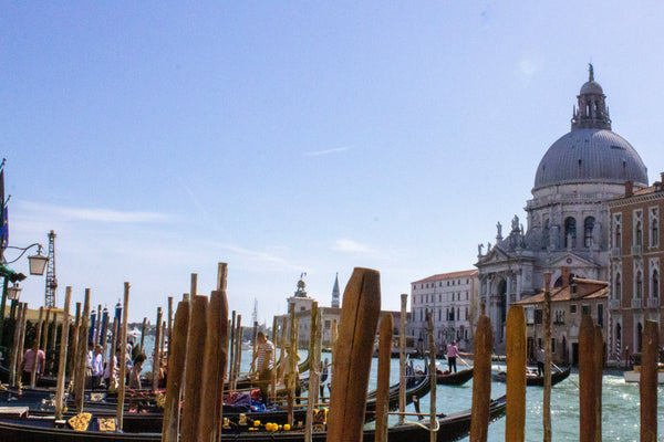
[[(645, 320), (660, 324), (664, 336), (661, 290), (664, 263), (664, 173), (653, 186), (609, 202), (611, 215), (611, 299), (609, 360), (621, 364), (641, 352)], [(626, 364), (625, 364), (626, 365)]]

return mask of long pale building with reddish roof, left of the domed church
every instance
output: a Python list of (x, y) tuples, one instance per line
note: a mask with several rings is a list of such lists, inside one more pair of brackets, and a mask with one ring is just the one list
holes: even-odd
[(442, 273), (411, 283), (411, 319), (407, 333), (415, 349), (428, 349), (426, 312), (432, 312), (434, 340), (439, 352), (456, 340), (460, 349), (471, 348), (477, 317), (477, 270)]

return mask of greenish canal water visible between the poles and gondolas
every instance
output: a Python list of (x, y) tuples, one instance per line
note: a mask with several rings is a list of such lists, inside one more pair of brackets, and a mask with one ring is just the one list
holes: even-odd
[[(146, 340), (146, 350), (151, 351), (152, 339)], [(307, 358), (307, 351), (300, 350), (301, 360)], [(279, 350), (277, 350), (279, 357)], [(331, 359), (329, 352), (322, 354), (322, 359)], [(422, 359), (414, 359), (414, 367), (424, 368)], [(242, 351), (240, 371), (249, 370), (251, 364), (251, 350)], [(446, 369), (446, 361), (442, 361), (442, 369)], [(473, 361), (468, 361), (473, 364)], [(459, 369), (463, 364), (457, 362)], [(146, 367), (146, 370), (151, 370)], [(304, 375), (307, 376), (307, 375)], [(370, 377), (370, 389), (374, 389), (377, 377), (377, 358), (372, 361)], [(391, 385), (398, 381), (398, 359), (392, 359), (390, 371)], [(553, 441), (578, 441), (579, 440), (579, 375), (572, 371), (570, 377), (551, 389), (551, 430)], [(657, 441), (664, 442), (664, 386), (658, 387), (658, 432)], [(328, 394), (328, 390), (326, 390)], [(491, 383), (491, 397), (498, 398), (505, 394), (505, 383)], [(526, 441), (541, 441), (542, 433), (542, 397), (543, 389), (540, 387), (528, 387), (526, 393)], [(429, 411), (430, 396), (422, 398), (421, 411)], [(452, 413), (467, 410), (471, 406), (473, 380), (464, 386), (437, 386), (436, 402), (438, 413)], [(408, 412), (414, 412), (413, 406), (408, 406)], [(409, 420), (415, 418), (409, 417)], [(396, 422), (396, 417), (391, 417), (391, 422)], [(619, 371), (606, 371), (602, 382), (602, 436), (604, 441), (637, 441), (640, 428), (640, 400), (639, 383), (625, 383)], [(489, 427), (489, 442), (505, 441), (505, 418), (491, 423)], [(468, 441), (468, 438), (464, 439)]]

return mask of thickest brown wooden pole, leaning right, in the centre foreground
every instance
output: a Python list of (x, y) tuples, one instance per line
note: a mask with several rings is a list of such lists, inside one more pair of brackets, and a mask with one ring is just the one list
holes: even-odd
[(343, 294), (339, 340), (332, 366), (328, 442), (359, 442), (366, 387), (381, 314), (381, 274), (356, 267)]

